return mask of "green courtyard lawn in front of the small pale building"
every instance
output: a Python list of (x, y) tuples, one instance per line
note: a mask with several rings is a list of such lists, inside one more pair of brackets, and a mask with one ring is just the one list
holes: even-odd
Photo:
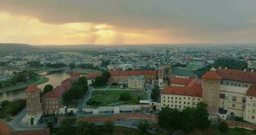
[(111, 103), (118, 103), (122, 102), (119, 100), (120, 94), (128, 92), (131, 96), (131, 100), (129, 103), (126, 104), (136, 104), (138, 103), (138, 97), (141, 99), (146, 99), (147, 94), (146, 92), (142, 91), (124, 91), (124, 90), (96, 90), (92, 94), (92, 99), (94, 101), (99, 101), (101, 102), (100, 105), (108, 105)]

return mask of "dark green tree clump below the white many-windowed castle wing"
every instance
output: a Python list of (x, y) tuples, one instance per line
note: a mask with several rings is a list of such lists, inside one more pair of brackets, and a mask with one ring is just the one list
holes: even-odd
[(180, 129), (188, 133), (195, 128), (201, 130), (209, 128), (211, 121), (209, 121), (208, 116), (205, 103), (198, 103), (195, 109), (186, 107), (182, 111), (164, 107), (159, 112), (159, 124), (163, 128)]

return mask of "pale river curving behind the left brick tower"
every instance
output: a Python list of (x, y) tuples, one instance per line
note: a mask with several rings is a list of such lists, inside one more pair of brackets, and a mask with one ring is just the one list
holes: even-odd
[[(70, 77), (70, 74), (67, 74), (65, 72), (58, 72), (58, 73), (46, 75), (45, 77), (49, 78), (49, 81), (46, 82), (45, 84), (41, 84), (38, 86), (42, 90), (47, 84), (53, 85), (53, 88), (55, 88), (56, 86), (59, 86), (63, 80)], [(0, 103), (1, 101), (4, 101), (4, 100), (12, 101), (14, 99), (25, 99), (25, 97), (26, 97), (25, 89), (1, 92)]]

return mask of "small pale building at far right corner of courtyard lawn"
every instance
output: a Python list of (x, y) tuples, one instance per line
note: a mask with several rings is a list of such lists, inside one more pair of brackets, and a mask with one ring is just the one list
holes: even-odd
[(144, 76), (131, 76), (128, 80), (128, 88), (145, 88)]

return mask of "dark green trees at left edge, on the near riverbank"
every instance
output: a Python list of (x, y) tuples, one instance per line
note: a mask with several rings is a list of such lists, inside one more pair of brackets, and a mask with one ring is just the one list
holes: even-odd
[(26, 100), (24, 99), (16, 99), (14, 101), (2, 101), (0, 107), (0, 118), (5, 117), (6, 115), (16, 115), (22, 109), (26, 107)]

